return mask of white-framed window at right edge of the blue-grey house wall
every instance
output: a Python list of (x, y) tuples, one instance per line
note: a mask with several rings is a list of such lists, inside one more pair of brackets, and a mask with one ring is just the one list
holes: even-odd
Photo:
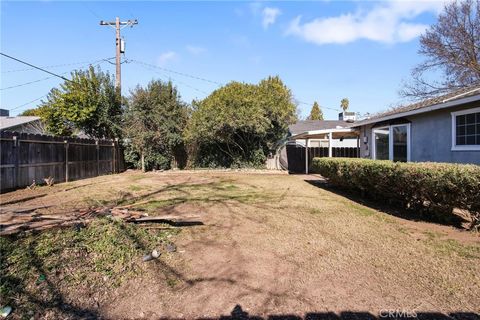
[(452, 150), (480, 150), (480, 108), (452, 112)]

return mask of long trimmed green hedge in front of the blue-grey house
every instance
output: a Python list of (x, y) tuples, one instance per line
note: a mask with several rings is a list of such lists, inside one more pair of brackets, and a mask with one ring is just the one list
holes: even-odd
[(480, 166), (314, 158), (312, 172), (333, 185), (417, 212), (451, 214), (453, 208), (465, 209), (472, 228), (480, 227)]

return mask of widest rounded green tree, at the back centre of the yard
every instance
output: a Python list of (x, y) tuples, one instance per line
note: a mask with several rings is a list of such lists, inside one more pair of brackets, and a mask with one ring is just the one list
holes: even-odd
[(193, 102), (185, 137), (195, 165), (261, 166), (295, 119), (292, 93), (279, 77), (230, 82)]

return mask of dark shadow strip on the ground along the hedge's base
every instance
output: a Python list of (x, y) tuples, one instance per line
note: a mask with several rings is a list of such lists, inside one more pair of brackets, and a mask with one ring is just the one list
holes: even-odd
[(340, 195), (344, 198), (357, 202), (366, 207), (369, 207), (378, 211), (382, 211), (389, 215), (402, 218), (405, 220), (433, 222), (441, 225), (455, 227), (457, 229), (462, 229), (462, 230), (465, 230), (466, 229), (465, 225), (468, 225), (470, 223), (468, 220), (464, 219), (463, 217), (460, 217), (453, 213), (449, 215), (424, 214), (424, 213), (418, 213), (411, 210), (402, 209), (401, 207), (395, 206), (394, 204), (375, 201), (374, 199), (363, 197), (354, 191), (345, 190), (340, 187), (331, 185), (323, 178), (319, 178), (317, 180), (305, 179), (305, 182), (315, 187), (318, 187), (320, 189), (323, 189), (325, 191)]

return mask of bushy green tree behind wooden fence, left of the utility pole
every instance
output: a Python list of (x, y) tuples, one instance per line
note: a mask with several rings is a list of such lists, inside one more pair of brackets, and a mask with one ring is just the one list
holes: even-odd
[(52, 89), (38, 114), (55, 135), (68, 136), (82, 130), (96, 138), (120, 136), (122, 108), (113, 79), (93, 66), (72, 72), (71, 81)]

